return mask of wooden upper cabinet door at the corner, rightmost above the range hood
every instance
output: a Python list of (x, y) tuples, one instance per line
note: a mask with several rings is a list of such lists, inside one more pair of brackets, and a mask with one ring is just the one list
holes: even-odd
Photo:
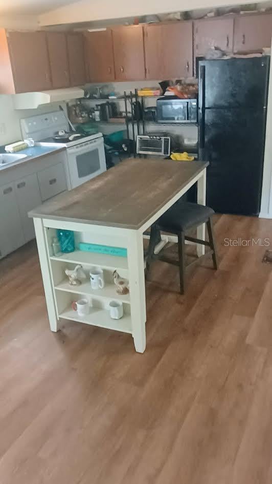
[(70, 86), (82, 86), (86, 82), (83, 35), (66, 34), (70, 72)]

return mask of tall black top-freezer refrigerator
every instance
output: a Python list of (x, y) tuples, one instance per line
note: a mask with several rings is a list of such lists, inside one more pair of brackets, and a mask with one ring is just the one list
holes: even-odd
[(210, 161), (207, 205), (215, 212), (260, 212), (269, 61), (198, 63), (198, 159)]

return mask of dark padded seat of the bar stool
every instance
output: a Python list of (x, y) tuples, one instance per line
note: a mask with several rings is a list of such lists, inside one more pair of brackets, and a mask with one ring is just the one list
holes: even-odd
[(214, 211), (210, 207), (190, 202), (176, 202), (160, 217), (156, 224), (165, 232), (184, 232), (208, 220)]

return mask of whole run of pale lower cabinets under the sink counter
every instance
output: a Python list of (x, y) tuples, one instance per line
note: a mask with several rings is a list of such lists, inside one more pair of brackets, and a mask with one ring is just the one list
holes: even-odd
[(1, 172), (0, 259), (35, 238), (28, 213), (67, 190), (65, 157), (61, 152)]

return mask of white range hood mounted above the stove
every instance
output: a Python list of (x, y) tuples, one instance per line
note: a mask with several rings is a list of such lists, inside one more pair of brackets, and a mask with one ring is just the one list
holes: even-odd
[(70, 101), (84, 97), (80, 88), (54, 89), (51, 91), (26, 92), (13, 94), (14, 109), (36, 109), (41, 104), (49, 102)]

